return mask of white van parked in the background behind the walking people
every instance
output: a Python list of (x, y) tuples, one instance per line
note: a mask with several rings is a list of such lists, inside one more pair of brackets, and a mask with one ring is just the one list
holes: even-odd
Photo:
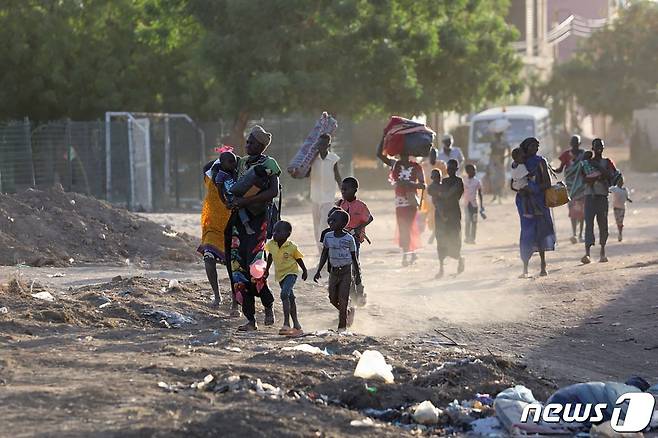
[(537, 137), (541, 145), (539, 153), (550, 162), (555, 145), (548, 109), (528, 105), (490, 108), (473, 116), (468, 135), (468, 161), (476, 163), (480, 169), (489, 164), (490, 145), (494, 139), (489, 124), (498, 119), (509, 122), (504, 138), (510, 149), (518, 147), (526, 137)]

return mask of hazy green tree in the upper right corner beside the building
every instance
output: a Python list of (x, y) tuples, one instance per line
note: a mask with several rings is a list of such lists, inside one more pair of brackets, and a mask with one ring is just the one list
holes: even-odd
[(634, 2), (555, 68), (552, 88), (575, 96), (591, 113), (628, 124), (633, 110), (656, 100), (657, 54), (658, 4)]

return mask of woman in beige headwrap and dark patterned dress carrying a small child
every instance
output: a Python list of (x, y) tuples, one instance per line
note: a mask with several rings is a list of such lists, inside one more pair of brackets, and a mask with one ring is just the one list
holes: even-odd
[[(272, 141), (272, 134), (262, 127), (255, 126), (247, 138), (247, 155), (238, 160), (238, 183), (240, 178), (254, 166), (262, 166), (267, 176), (256, 184), (257, 193), (252, 196), (234, 196), (229, 204), (233, 209), (229, 224), (226, 227), (226, 245), (230, 247), (227, 269), (231, 280), (233, 293), (242, 303), (242, 313), (247, 323), (238, 327), (240, 331), (257, 330), (256, 296), (265, 308), (265, 325), (274, 324), (272, 305), (274, 297), (267, 285), (265, 270), (265, 241), (269, 223), (269, 212), (272, 200), (279, 194), (279, 175), (281, 169), (274, 158), (264, 155), (265, 149)], [(240, 209), (246, 210), (248, 225), (254, 230), (250, 234), (245, 222), (240, 219)], [(259, 277), (252, 278), (252, 273)]]

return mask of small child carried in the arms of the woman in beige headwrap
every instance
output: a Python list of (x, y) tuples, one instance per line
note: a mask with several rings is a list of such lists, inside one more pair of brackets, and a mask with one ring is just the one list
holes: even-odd
[[(256, 194), (256, 183), (268, 176), (264, 166), (253, 166), (238, 180), (238, 159), (233, 152), (222, 152), (219, 155), (219, 171), (215, 176), (215, 185), (219, 188), (220, 198), (225, 204), (230, 204), (236, 196), (244, 197)], [(240, 208), (238, 216), (244, 225), (247, 234), (255, 231), (249, 224), (249, 215), (246, 209)]]

